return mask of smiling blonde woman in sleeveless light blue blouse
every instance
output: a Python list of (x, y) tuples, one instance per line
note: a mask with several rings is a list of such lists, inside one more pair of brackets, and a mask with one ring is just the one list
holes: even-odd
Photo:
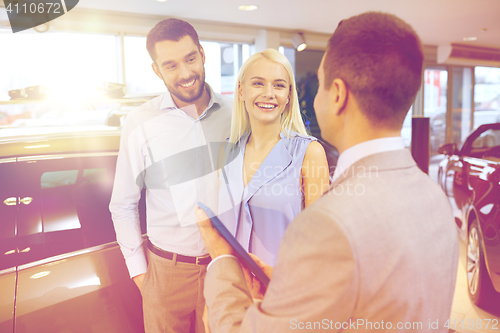
[(274, 265), (288, 224), (328, 188), (325, 151), (306, 133), (284, 55), (252, 55), (236, 91), (219, 217), (247, 251)]

